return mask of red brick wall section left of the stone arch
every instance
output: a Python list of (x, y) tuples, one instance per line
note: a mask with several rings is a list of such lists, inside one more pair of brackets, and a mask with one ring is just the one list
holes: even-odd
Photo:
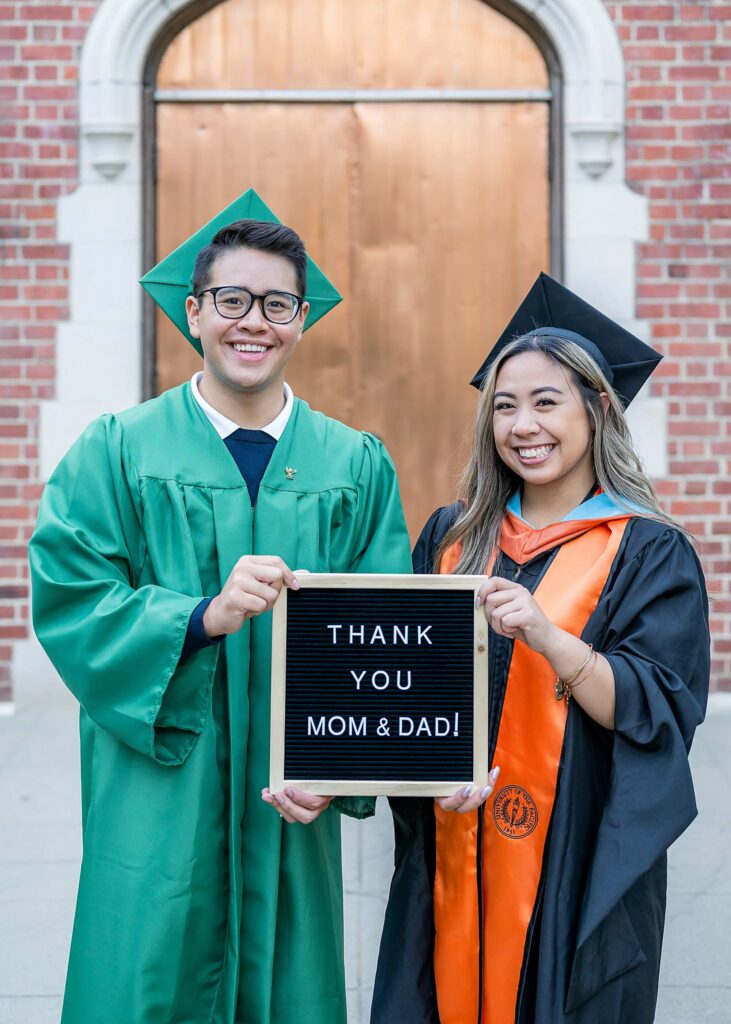
[(69, 315), (55, 201), (77, 185), (79, 50), (96, 6), (0, 0), (0, 700), (29, 630), (39, 408), (54, 395), (56, 324)]

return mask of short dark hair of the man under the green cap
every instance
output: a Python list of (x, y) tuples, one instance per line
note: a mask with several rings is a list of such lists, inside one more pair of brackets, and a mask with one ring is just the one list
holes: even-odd
[[(197, 298), (208, 288), (213, 264), (224, 252), (233, 249), (259, 249), (273, 253), (290, 261), (297, 275), (297, 290), (304, 298), (307, 288), (307, 253), (302, 239), (285, 224), (272, 224), (266, 220), (234, 220), (226, 224), (211, 239), (196, 257), (196, 265), (190, 279), (190, 292)], [(231, 285), (246, 282), (231, 281)]]

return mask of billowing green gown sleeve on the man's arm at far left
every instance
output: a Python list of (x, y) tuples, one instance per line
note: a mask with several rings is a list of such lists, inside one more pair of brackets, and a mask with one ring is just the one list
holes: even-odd
[(98, 726), (174, 765), (203, 729), (218, 645), (179, 663), (201, 595), (184, 566), (180, 583), (188, 583), (188, 593), (145, 582), (141, 520), (122, 428), (102, 417), (59, 464), (41, 501), (30, 546), (34, 626)]

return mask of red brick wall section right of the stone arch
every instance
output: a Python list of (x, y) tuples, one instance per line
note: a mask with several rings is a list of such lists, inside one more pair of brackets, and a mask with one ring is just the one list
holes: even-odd
[(665, 358), (665, 507), (698, 538), (714, 681), (731, 689), (731, 3), (607, 2), (627, 65), (627, 180), (647, 196), (637, 315)]

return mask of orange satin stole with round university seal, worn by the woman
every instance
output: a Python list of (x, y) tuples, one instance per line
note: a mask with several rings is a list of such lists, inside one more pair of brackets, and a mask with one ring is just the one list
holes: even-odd
[[(501, 547), (518, 562), (561, 544), (534, 598), (556, 626), (580, 636), (616, 556), (629, 516), (530, 529), (506, 515)], [(570, 538), (570, 539), (569, 539)], [(439, 572), (454, 571), (458, 541)], [(491, 571), (491, 565), (487, 567)], [(542, 654), (516, 641), (493, 764), (496, 792), (483, 810), (481, 850), (482, 1024), (514, 1024), (525, 940), (538, 896), (556, 796), (567, 707)], [(478, 814), (435, 805), (434, 974), (441, 1024), (479, 1018)]]

